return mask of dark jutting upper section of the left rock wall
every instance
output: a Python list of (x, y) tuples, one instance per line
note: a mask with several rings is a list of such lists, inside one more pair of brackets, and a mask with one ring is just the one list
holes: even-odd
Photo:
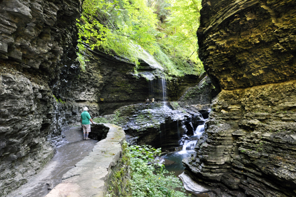
[[(69, 58), (75, 58), (79, 0), (2, 0), (0, 2), (1, 64), (59, 78)], [(68, 60), (66, 60), (68, 57)]]

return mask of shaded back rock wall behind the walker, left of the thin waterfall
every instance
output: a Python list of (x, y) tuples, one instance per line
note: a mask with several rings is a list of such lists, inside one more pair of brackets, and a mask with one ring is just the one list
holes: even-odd
[(63, 100), (86, 103), (92, 117), (112, 114), (125, 105), (144, 103), (148, 97), (148, 80), (135, 76), (135, 65), (99, 51), (88, 49), (85, 71), (70, 69), (61, 76), (56, 90)]

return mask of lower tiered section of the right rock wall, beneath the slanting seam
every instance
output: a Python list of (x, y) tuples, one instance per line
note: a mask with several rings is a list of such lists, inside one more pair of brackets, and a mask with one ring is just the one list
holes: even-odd
[(222, 90), (187, 173), (233, 197), (296, 196), (295, 101), (295, 80)]

